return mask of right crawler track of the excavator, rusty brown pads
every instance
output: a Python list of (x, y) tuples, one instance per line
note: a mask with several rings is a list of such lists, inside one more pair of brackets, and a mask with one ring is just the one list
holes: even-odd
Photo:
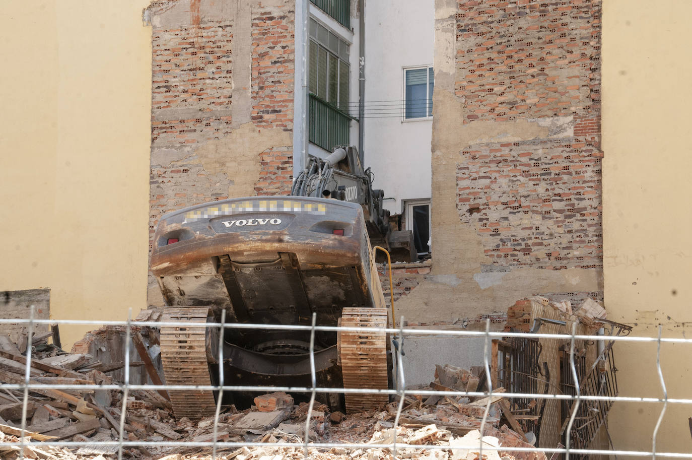
[[(340, 326), (386, 328), (384, 308), (344, 308)], [(344, 388), (388, 389), (387, 334), (370, 330), (338, 333), (338, 348)], [(346, 393), (346, 413), (371, 411), (388, 403), (386, 393)]]

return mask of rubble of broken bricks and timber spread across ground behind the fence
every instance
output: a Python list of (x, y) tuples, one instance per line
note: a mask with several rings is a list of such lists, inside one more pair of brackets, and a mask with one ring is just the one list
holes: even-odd
[[(44, 339), (33, 342), (30, 383), (42, 384), (28, 393), (24, 450), (6, 443), (19, 442), (23, 391), (4, 389), (0, 392), (0, 459), (102, 459), (115, 458), (117, 446), (90, 445), (94, 441), (120, 439), (120, 407), (122, 391), (111, 389), (54, 389), (53, 384), (111, 384), (118, 383), (106, 373), (112, 364), (94, 361), (84, 353), (65, 353)], [(480, 368), (479, 368), (480, 369)], [(22, 384), (26, 357), (16, 344), (0, 339), (0, 382)], [(475, 391), (480, 378), (471, 371), (453, 366), (437, 366), (431, 389)], [(495, 389), (502, 393), (504, 389)], [(176, 420), (170, 403), (156, 391), (129, 390), (123, 439), (145, 441), (146, 444), (124, 449), (125, 457), (135, 459), (181, 460), (209, 456), (211, 448), (166, 447), (158, 441), (214, 440), (213, 417), (201, 421), (188, 418)], [(164, 393), (165, 394), (165, 393)], [(391, 443), (396, 432), (397, 443), (438, 445), (439, 449), (399, 448), (398, 458), (425, 460), (474, 460), (478, 458), (480, 427), (486, 405), (491, 404), (484, 425), (483, 443), (506, 450), (483, 452), (485, 460), (545, 460), (544, 454), (512, 452), (514, 447), (532, 447), (525, 435), (500, 427), (501, 394), (492, 398), (450, 396), (406, 396), (399, 425), (394, 427), (398, 402), (383, 406), (379, 412), (363, 412), (345, 416), (329, 412), (325, 405), (316, 404), (310, 414), (309, 441), (313, 443), (363, 443), (363, 448), (309, 449), (311, 459), (375, 460), (392, 458), (389, 448), (367, 448), (367, 445)], [(286, 393), (268, 393), (255, 398), (255, 405), (239, 411), (235, 406), (224, 407), (216, 427), (217, 441), (259, 442), (262, 447), (225, 448), (217, 452), (226, 460), (280, 460), (302, 458), (307, 403), (294, 404)], [(41, 441), (76, 441), (79, 449), (42, 445)], [(273, 446), (274, 443), (296, 443), (295, 448)], [(473, 447), (475, 446), (475, 448)]]

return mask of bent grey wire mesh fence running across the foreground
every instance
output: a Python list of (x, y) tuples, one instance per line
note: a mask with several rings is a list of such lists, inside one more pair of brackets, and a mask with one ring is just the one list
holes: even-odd
[[(657, 437), (664, 414), (668, 405), (691, 405), (692, 398), (668, 398), (666, 391), (666, 382), (661, 367), (661, 345), (662, 344), (689, 344), (692, 339), (662, 337), (662, 329), (659, 327), (657, 337), (641, 337), (623, 334), (623, 329), (617, 329), (616, 324), (610, 323), (610, 335), (603, 333), (580, 333), (579, 325), (575, 321), (571, 327), (567, 327), (567, 332), (564, 330), (561, 333), (540, 333), (536, 332), (506, 332), (493, 331), (488, 320), (485, 330), (464, 330), (464, 329), (417, 329), (405, 327), (405, 319), (398, 318), (400, 321), (399, 327), (388, 328), (352, 328), (344, 326), (318, 326), (316, 325), (316, 317), (313, 315), (311, 325), (280, 325), (280, 324), (227, 324), (224, 321), (224, 313), (220, 322), (190, 322), (190, 321), (75, 321), (75, 320), (48, 320), (35, 319), (33, 308), (30, 318), (28, 319), (0, 319), (0, 328), (3, 324), (21, 324), (26, 328), (28, 335), (28, 344), (24, 355), (15, 355), (14, 367), (10, 369), (12, 372), (3, 373), (3, 379), (0, 384), (0, 391), (12, 393), (19, 403), (21, 403), (21, 416), (19, 416), (19, 426), (15, 427), (16, 440), (4, 439), (2, 445), (4, 448), (16, 448), (19, 457), (22, 458), (28, 452), (27, 446), (37, 445), (35, 442), (38, 436), (32, 437), (28, 435), (27, 414), (30, 408), (30, 394), (38, 393), (43, 395), (54, 396), (55, 394), (62, 395), (65, 400), (73, 404), (78, 397), (80, 391), (102, 391), (114, 390), (122, 394), (120, 398), (120, 407), (114, 413), (118, 414), (118, 418), (113, 418), (113, 412), (104, 414), (102, 408), (98, 405), (90, 405), (95, 410), (97, 416), (105, 416), (109, 418), (109, 423), (113, 425), (113, 429), (117, 432), (117, 440), (112, 441), (91, 441), (82, 439), (82, 441), (66, 440), (66, 439), (46, 439), (38, 444), (44, 446), (57, 446), (66, 449), (77, 449), (89, 445), (91, 448), (111, 448), (111, 452), (118, 455), (118, 459), (122, 459), (124, 452), (130, 448), (147, 448), (152, 446), (156, 448), (199, 448), (205, 450), (212, 457), (221, 456), (220, 452), (227, 452), (228, 449), (242, 449), (261, 447), (266, 445), (262, 439), (244, 439), (242, 441), (224, 441), (219, 439), (221, 430), (221, 414), (222, 402), (225, 394), (233, 394), (238, 392), (252, 393), (273, 393), (284, 391), (286, 393), (296, 393), (304, 395), (304, 400), (308, 403), (306, 418), (304, 421), (304, 429), (300, 436), (289, 436), (286, 439), (273, 442), (274, 448), (293, 448), (300, 450), (304, 457), (309, 457), (313, 452), (324, 452), (325, 450), (334, 450), (338, 452), (353, 452), (354, 450), (374, 450), (380, 449), (390, 455), (390, 458), (410, 458), (414, 456), (411, 452), (434, 452), (444, 451), (449, 454), (450, 459), (473, 458), (475, 455), (478, 459), (491, 458), (489, 452), (499, 452), (507, 455), (511, 452), (516, 457), (521, 457), (521, 454), (527, 452), (535, 452), (536, 457), (522, 458), (544, 458), (540, 457), (545, 454), (545, 458), (556, 460), (564, 459), (592, 459), (599, 456), (622, 456), (622, 457), (673, 457), (673, 458), (692, 458), (692, 453), (689, 452), (661, 452), (657, 448)], [(122, 366), (124, 375), (122, 382), (102, 382), (100, 384), (79, 383), (45, 383), (35, 375), (37, 360), (35, 360), (33, 347), (30, 346), (33, 342), (38, 325), (61, 325), (61, 324), (79, 324), (93, 326), (120, 326), (125, 330), (125, 353), (123, 354), (125, 362)], [(131, 369), (131, 346), (133, 345), (133, 331), (137, 332), (137, 328), (161, 328), (179, 327), (179, 328), (204, 328), (205, 330), (216, 331), (213, 335), (214, 339), (207, 339), (206, 347), (215, 348), (215, 362), (209, 364), (210, 374), (212, 375), (212, 384), (207, 385), (187, 385), (187, 384), (134, 384), (130, 379)], [(228, 376), (224, 375), (224, 362), (228, 359), (224, 357), (224, 333), (227, 330), (301, 330), (304, 333), (309, 333), (310, 342), (307, 355), (309, 357), (310, 379), (309, 384), (305, 385), (280, 385), (280, 384), (245, 384), (246, 382), (234, 380), (229, 384)], [(316, 346), (315, 337), (318, 333), (344, 333), (355, 332), (363, 333), (385, 333), (387, 334), (392, 358), (392, 384), (389, 388), (366, 388), (366, 387), (329, 387), (318, 382), (316, 371), (315, 357)], [(629, 332), (628, 330), (626, 331)], [(442, 384), (430, 388), (411, 388), (406, 385), (406, 338), (416, 336), (434, 336), (439, 339), (463, 339), (466, 337), (475, 337), (483, 339), (484, 348), (482, 355), (482, 363), (478, 366), (475, 382), (477, 386), (471, 387), (467, 385), (465, 389), (450, 388)], [(550, 342), (550, 341), (554, 341)], [(617, 386), (617, 368), (614, 366), (614, 346), (620, 342), (646, 344), (647, 346), (655, 347), (656, 349), (656, 373), (659, 378), (660, 388), (663, 397), (655, 396), (619, 396)], [(549, 347), (554, 344), (559, 344), (558, 348), (554, 348), (555, 353), (551, 355), (547, 353)], [(586, 345), (589, 345), (588, 348)], [(547, 362), (547, 358), (539, 360), (541, 353), (554, 360), (553, 364)], [(552, 352), (551, 352), (552, 353)], [(6, 359), (6, 354), (3, 354), (3, 359)], [(8, 369), (7, 363), (3, 361), (3, 366), (0, 369)], [(24, 371), (19, 374), (19, 367)], [(554, 370), (549, 368), (553, 366)], [(53, 370), (55, 373), (55, 371)], [(15, 377), (10, 378), (9, 375)], [(20, 375), (20, 377), (17, 377)], [(552, 377), (551, 377), (552, 375)], [(559, 375), (559, 378), (558, 378)], [(555, 384), (559, 382), (559, 384)], [(253, 382), (250, 382), (253, 383)], [(212, 391), (215, 394), (216, 407), (212, 418), (212, 435), (208, 441), (194, 441), (190, 439), (156, 441), (147, 439), (131, 439), (128, 435), (126, 427), (128, 425), (127, 414), (128, 405), (131, 404), (129, 393), (133, 391), (158, 391), (161, 394), (166, 394), (170, 391), (185, 391), (192, 393), (193, 391)], [(58, 392), (58, 393), (55, 393)], [(313, 407), (320, 395), (324, 394), (382, 394), (386, 395), (392, 403), (393, 423), (390, 429), (393, 432), (389, 437), (381, 437), (380, 439), (370, 439), (357, 442), (331, 442), (320, 441), (314, 436), (311, 430), (311, 418), (313, 417)], [(76, 399), (75, 399), (76, 398)], [(480, 432), (480, 437), (477, 439), (477, 448), (475, 450), (468, 445), (451, 445), (450, 443), (441, 443), (439, 439), (424, 439), (428, 441), (420, 443), (407, 442), (406, 436), (399, 436), (401, 421), (406, 418), (404, 414), (405, 406), (410, 405), (410, 401), (418, 401), (421, 405), (424, 401), (430, 398), (447, 398), (451, 404), (459, 405), (459, 398), (468, 398), (461, 400), (462, 404), (476, 403), (475, 407), (480, 409), (478, 412), (480, 425), (477, 427)], [(480, 405), (477, 403), (481, 403)], [(651, 445), (649, 450), (616, 450), (610, 443), (610, 448), (594, 448), (595, 436), (605, 427), (607, 433), (607, 415), (608, 410), (616, 403), (659, 403), (662, 404), (662, 410), (657, 418), (657, 423), (651, 433)], [(513, 419), (513, 427), (518, 427), (522, 432), (522, 438), (527, 439), (525, 432), (528, 428), (533, 430), (532, 439), (529, 436), (528, 443), (521, 445), (499, 445), (491, 441), (486, 441), (483, 437), (489, 432), (491, 423), (498, 417), (497, 408), (500, 406), (502, 414), (507, 421)], [(99, 412), (101, 411), (101, 413)], [(461, 407), (459, 407), (461, 410)], [(557, 411), (561, 416), (550, 418), (547, 413)], [(508, 415), (509, 414), (509, 415)], [(516, 426), (514, 423), (520, 421)], [(444, 425), (444, 424), (443, 424)], [(549, 429), (546, 428), (549, 425)], [(6, 426), (7, 425), (3, 425)], [(10, 427), (11, 428), (11, 427)], [(524, 428), (524, 430), (521, 430)], [(163, 428), (162, 428), (163, 430)], [(1, 430), (0, 430), (1, 431)], [(495, 431), (496, 432), (496, 431)], [(8, 434), (8, 430), (5, 430)], [(610, 436), (608, 434), (608, 436)], [(273, 440), (276, 441), (276, 440)], [(471, 450), (469, 450), (471, 449)], [(295, 450), (295, 452), (298, 452)], [(459, 456), (459, 452), (471, 452), (471, 457)], [(1, 455), (1, 452), (0, 452)], [(224, 454), (225, 456), (226, 454)], [(414, 456), (415, 457), (415, 456)], [(37, 458), (37, 457), (33, 457)], [(41, 458), (39, 456), (38, 458)], [(50, 456), (44, 458), (51, 458)], [(226, 457), (230, 458), (230, 457)], [(352, 457), (355, 458), (355, 457)], [(431, 457), (437, 458), (437, 457)], [(499, 457), (498, 457), (499, 458)]]

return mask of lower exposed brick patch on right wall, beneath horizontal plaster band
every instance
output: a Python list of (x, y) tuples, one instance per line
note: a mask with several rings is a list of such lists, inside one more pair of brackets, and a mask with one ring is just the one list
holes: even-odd
[(602, 267), (601, 152), (574, 139), (476, 145), (457, 166), (458, 209), (489, 263)]

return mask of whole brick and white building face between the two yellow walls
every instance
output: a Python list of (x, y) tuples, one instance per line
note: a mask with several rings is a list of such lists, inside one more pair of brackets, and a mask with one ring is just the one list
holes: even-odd
[[(500, 330), (527, 297), (608, 300), (601, 1), (409, 3), (152, 3), (150, 231), (289, 193), (309, 155), (348, 143), (417, 231), (426, 260), (394, 267), (410, 326)], [(421, 369), (437, 346), (415, 343)]]

